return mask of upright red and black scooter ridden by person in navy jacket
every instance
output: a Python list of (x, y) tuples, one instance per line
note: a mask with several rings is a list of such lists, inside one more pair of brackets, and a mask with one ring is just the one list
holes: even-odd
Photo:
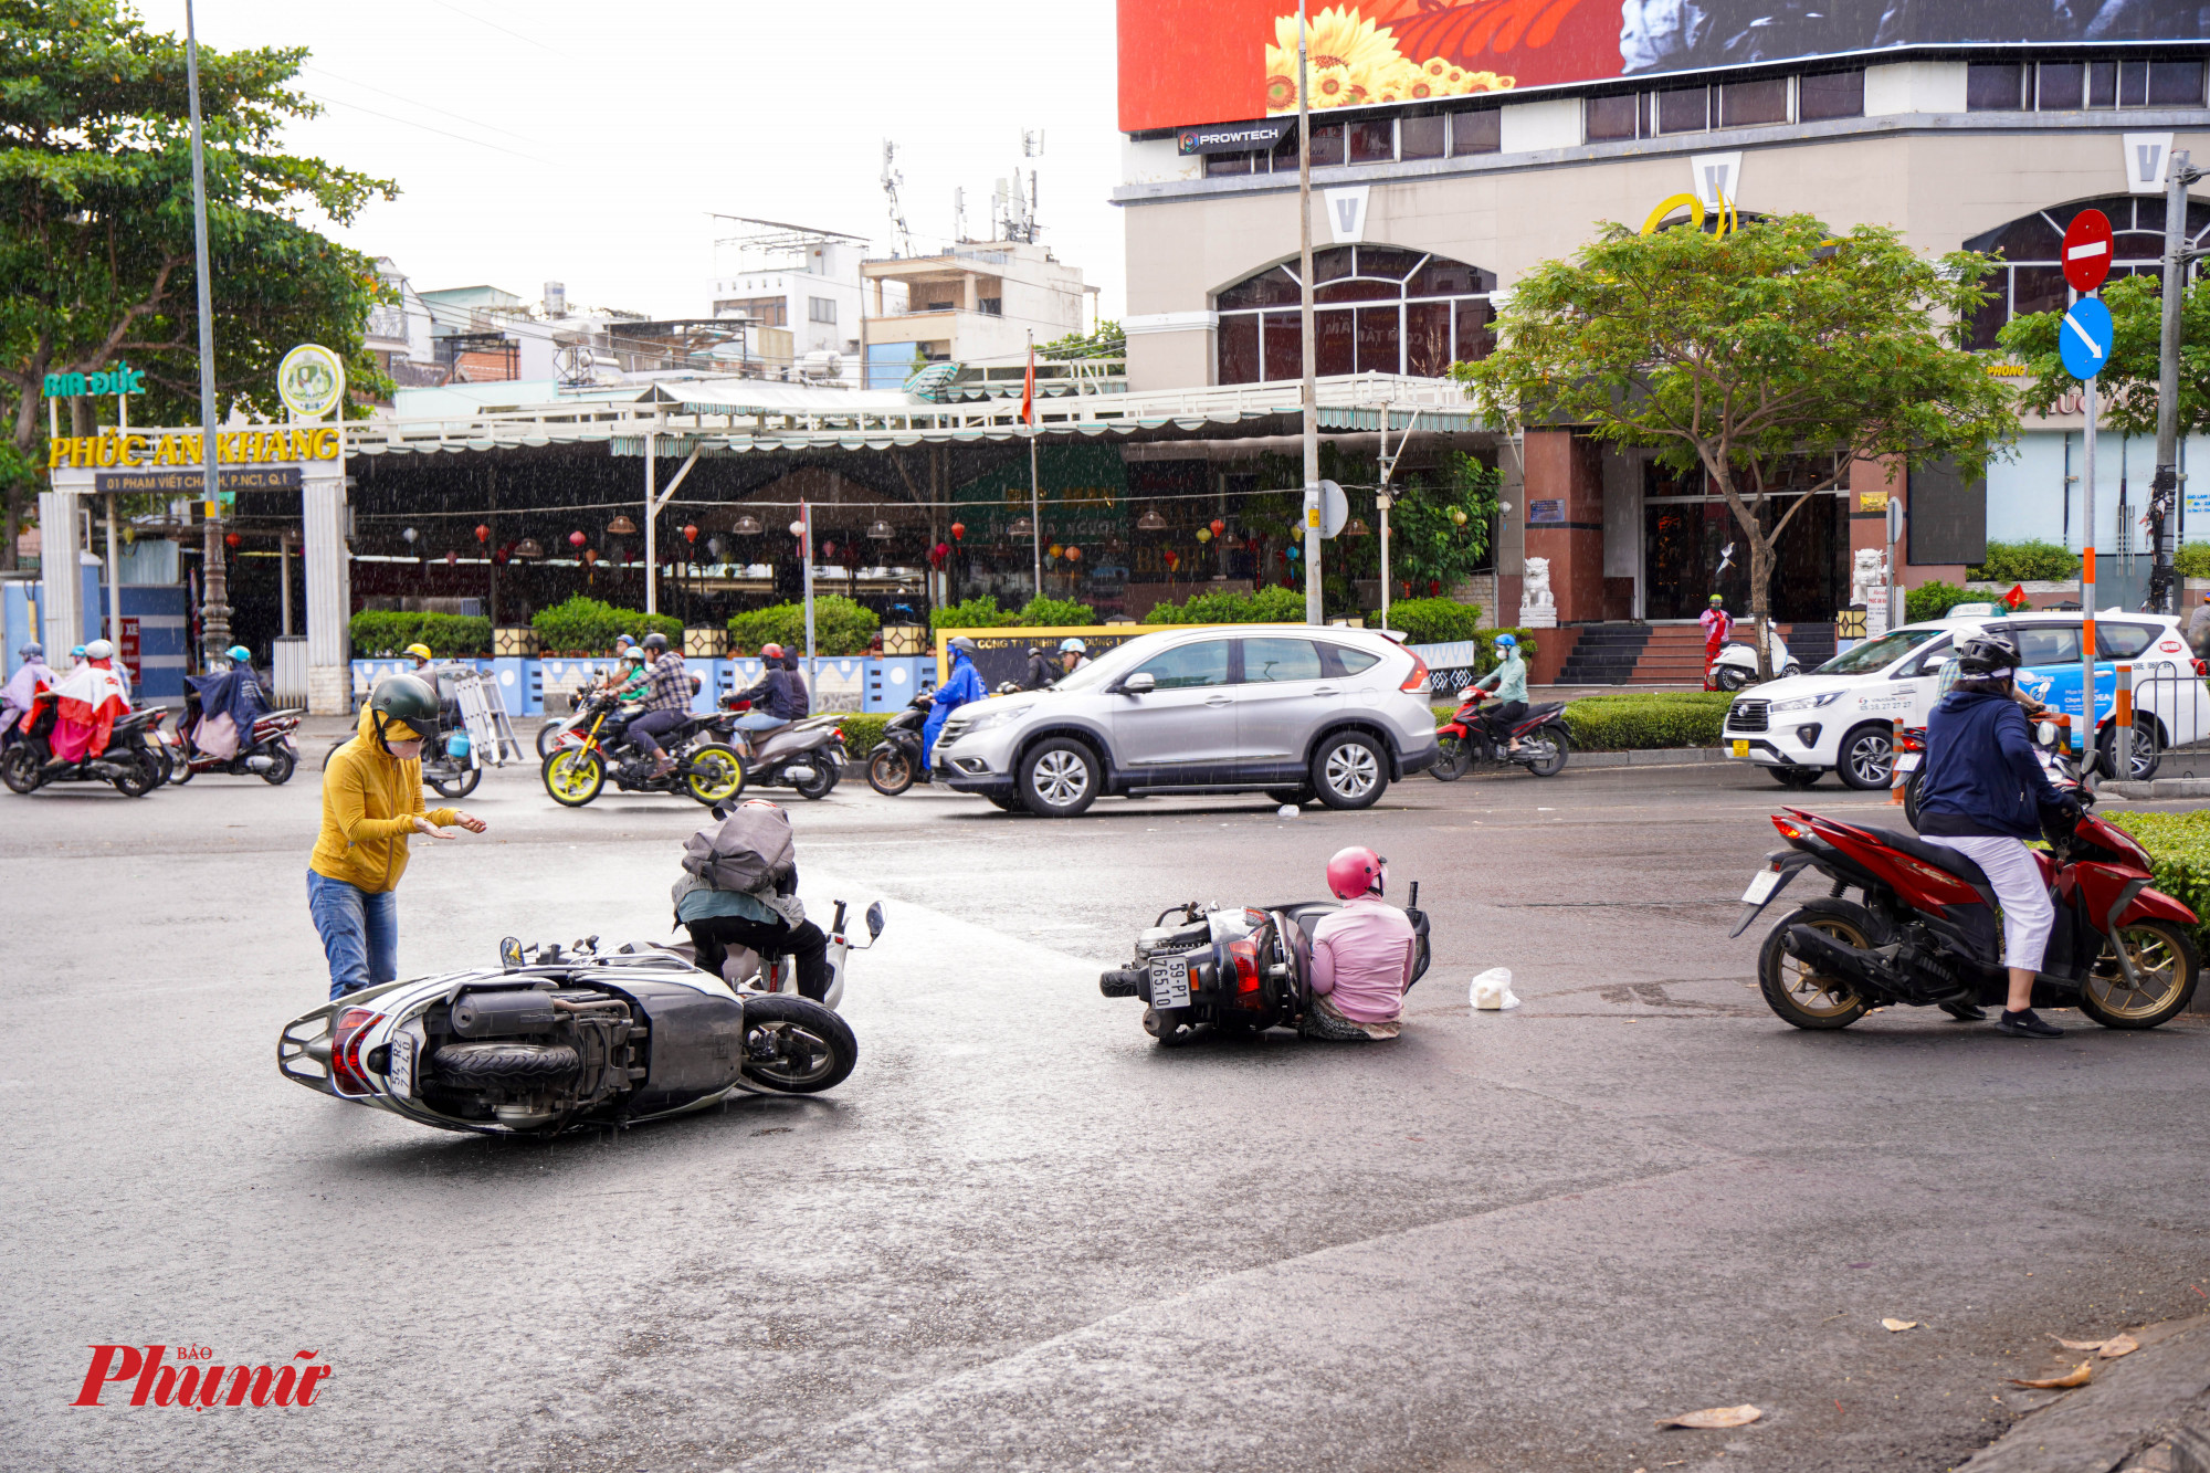
[[(2049, 779), (2091, 803), (2055, 721), (2035, 730)], [(1788, 840), (1750, 878), (1741, 918), (1753, 920), (1806, 869), (1832, 894), (1781, 916), (1757, 953), (1766, 1004), (1797, 1028), (1848, 1028), (1890, 1004), (1969, 1015), (2009, 993), (1996, 891), (1969, 858), (1916, 834), (1841, 823), (1790, 807), (1772, 816)], [(2188, 1006), (2199, 960), (2195, 911), (2150, 889), (2150, 860), (2124, 829), (2093, 814), (2064, 832), (2044, 814), (2035, 852), (2058, 907), (2035, 1006), (2077, 1006), (2106, 1028), (2155, 1028)], [(1856, 889), (1859, 900), (1848, 900)]]

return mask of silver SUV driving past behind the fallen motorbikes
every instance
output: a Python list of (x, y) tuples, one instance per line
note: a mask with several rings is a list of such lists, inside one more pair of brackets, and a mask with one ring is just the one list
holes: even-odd
[(1101, 792), (1266, 792), (1368, 807), (1434, 765), (1428, 666), (1381, 633), (1251, 624), (1129, 639), (1050, 690), (961, 706), (935, 770), (1003, 809)]

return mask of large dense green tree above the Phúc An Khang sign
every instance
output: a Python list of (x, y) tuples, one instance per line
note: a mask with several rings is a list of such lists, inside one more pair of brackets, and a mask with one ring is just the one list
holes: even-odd
[[(214, 294), (217, 414), (276, 411), (276, 363), (323, 343), (354, 383), (389, 389), (362, 338), (376, 263), (316, 234), (349, 223), (371, 179), (283, 153), (298, 46), (199, 51)], [(0, 482), (13, 566), (22, 493), (42, 473), (46, 374), (144, 369), (139, 422), (199, 422), (190, 97), (183, 42), (119, 0), (0, 0)], [(95, 403), (75, 398), (71, 433)]]

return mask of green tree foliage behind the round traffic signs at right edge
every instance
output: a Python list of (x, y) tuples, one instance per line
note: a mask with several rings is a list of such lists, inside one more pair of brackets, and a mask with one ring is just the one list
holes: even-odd
[[(2095, 376), (2097, 418), (2106, 433), (2157, 433), (2157, 358), (2164, 343), (2164, 283), (2157, 276), (2119, 276), (2102, 290), (2111, 310), (2111, 363)], [(2062, 312), (2013, 316), (1996, 336), (2027, 365), (2018, 391), (2022, 409), (2049, 414), (2080, 380), (2058, 354)], [(2179, 305), (2179, 433), (2210, 429), (2210, 292), (2201, 279)]]

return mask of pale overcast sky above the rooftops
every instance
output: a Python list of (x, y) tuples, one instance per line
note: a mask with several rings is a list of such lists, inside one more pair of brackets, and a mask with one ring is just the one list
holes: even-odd
[[(183, 33), (183, 0), (141, 0)], [(338, 234), (420, 290), (493, 283), (654, 316), (712, 312), (716, 221), (864, 234), (888, 254), (882, 142), (917, 250), (986, 234), (1041, 128), (1041, 241), (1120, 316), (1112, 0), (197, 0), (208, 46), (307, 46), (327, 104), (292, 146), (396, 179)], [(720, 226), (718, 234), (732, 228)]]

